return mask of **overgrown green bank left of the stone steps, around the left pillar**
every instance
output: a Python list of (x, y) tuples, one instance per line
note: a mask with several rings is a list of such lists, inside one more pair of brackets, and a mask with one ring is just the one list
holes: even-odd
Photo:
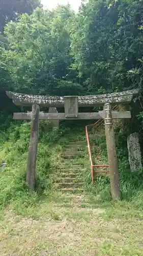
[(1, 193), (0, 202), (1, 207), (6, 206), (14, 200), (25, 200), (31, 202), (32, 198), (38, 199), (41, 194), (46, 193), (51, 189), (52, 185), (52, 170), (56, 168), (56, 162), (52, 161), (55, 148), (51, 146), (48, 141), (51, 137), (55, 140), (56, 134), (52, 134), (49, 129), (48, 137), (44, 139), (44, 143), (40, 142), (38, 145), (37, 157), (37, 177), (36, 177), (36, 191), (33, 195), (28, 192), (28, 187), (25, 183), (26, 176), (26, 161), (27, 151), (30, 136), (30, 123), (17, 122), (12, 124), (7, 130), (8, 136), (0, 137), (0, 162), (5, 159), (7, 162), (6, 169), (1, 169)]

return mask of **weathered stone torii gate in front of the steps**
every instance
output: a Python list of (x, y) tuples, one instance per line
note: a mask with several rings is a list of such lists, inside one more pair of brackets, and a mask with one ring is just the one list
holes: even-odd
[[(14, 113), (13, 118), (18, 120), (31, 120), (31, 137), (28, 149), (28, 160), (26, 169), (26, 182), (34, 189), (36, 175), (36, 160), (39, 136), (39, 120), (63, 120), (63, 119), (103, 119), (105, 123), (105, 134), (107, 154), (110, 173), (111, 194), (113, 199), (120, 199), (120, 184), (118, 172), (118, 158), (116, 152), (115, 136), (112, 119), (130, 118), (130, 111), (111, 111), (111, 104), (129, 103), (138, 90), (130, 90), (119, 93), (102, 94), (94, 96), (42, 96), (28, 95), (14, 92), (6, 92), (13, 103), (20, 106), (32, 106), (32, 112)], [(79, 107), (103, 105), (103, 111), (92, 113), (79, 113)], [(54, 108), (54, 113), (40, 112), (40, 106)], [(58, 107), (65, 107), (65, 113), (56, 113)]]

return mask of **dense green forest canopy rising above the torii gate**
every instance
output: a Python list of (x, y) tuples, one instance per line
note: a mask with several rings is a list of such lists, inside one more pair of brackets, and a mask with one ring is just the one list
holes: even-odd
[(70, 5), (33, 11), (40, 3), (26, 2), (33, 8), (27, 11), (21, 1), (14, 15), (3, 15), (5, 22), (1, 17), (3, 26), (11, 20), (1, 35), (1, 92), (85, 95), (140, 88), (135, 110), (142, 111), (142, 0), (83, 1), (78, 13)]

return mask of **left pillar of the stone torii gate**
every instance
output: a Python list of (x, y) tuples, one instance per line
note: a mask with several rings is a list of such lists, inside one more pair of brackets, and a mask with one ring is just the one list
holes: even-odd
[(26, 182), (31, 189), (34, 189), (35, 186), (37, 149), (39, 137), (39, 112), (40, 106), (37, 104), (33, 104), (31, 119), (31, 137), (28, 149), (28, 160), (26, 169)]

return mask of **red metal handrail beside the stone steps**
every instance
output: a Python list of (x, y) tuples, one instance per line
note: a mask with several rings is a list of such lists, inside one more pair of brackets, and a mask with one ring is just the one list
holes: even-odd
[[(114, 106), (112, 110), (117, 110), (118, 106)], [(120, 107), (121, 109), (121, 107)], [(101, 125), (104, 123), (104, 119), (99, 119), (96, 123), (94, 124), (89, 124), (85, 126), (85, 134), (87, 138), (87, 144), (88, 144), (88, 152), (89, 152), (89, 158), (91, 162), (91, 176), (92, 176), (92, 184), (94, 183), (94, 173), (109, 173), (108, 169), (105, 170), (94, 170), (94, 167), (109, 167), (108, 164), (93, 164), (93, 159), (92, 159), (92, 151), (91, 151), (91, 146), (90, 146), (90, 138), (89, 138), (89, 133), (88, 133), (88, 128), (93, 126), (93, 134), (95, 131), (96, 127), (101, 127)]]

